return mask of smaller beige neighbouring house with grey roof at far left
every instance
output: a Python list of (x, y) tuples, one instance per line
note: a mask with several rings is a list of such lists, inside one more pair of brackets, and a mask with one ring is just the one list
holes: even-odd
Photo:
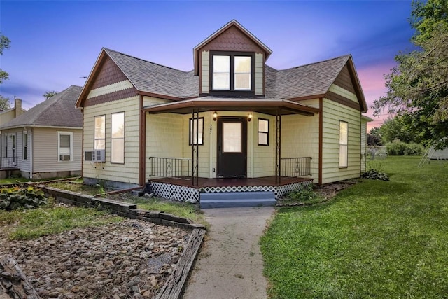
[(82, 88), (72, 85), (1, 125), (1, 167), (29, 179), (78, 175), (82, 164)]

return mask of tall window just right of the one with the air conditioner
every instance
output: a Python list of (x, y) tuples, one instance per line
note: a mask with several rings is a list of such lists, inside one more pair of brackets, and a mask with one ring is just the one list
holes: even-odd
[(111, 114), (111, 162), (125, 162), (125, 113)]

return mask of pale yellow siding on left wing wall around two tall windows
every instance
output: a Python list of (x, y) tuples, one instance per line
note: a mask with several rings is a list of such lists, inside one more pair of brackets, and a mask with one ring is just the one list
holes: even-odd
[[(111, 163), (111, 113), (125, 113), (125, 163)], [(84, 108), (84, 151), (94, 148), (94, 116), (106, 115), (106, 162), (84, 161), (83, 176), (124, 183), (139, 183), (139, 97), (120, 99), (111, 103)]]

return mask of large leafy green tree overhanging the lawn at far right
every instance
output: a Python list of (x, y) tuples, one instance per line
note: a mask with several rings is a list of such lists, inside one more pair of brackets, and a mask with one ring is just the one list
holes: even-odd
[(448, 145), (448, 0), (414, 1), (410, 22), (417, 50), (395, 57), (387, 94), (372, 108), (376, 116), (397, 113), (407, 130), (440, 148)]

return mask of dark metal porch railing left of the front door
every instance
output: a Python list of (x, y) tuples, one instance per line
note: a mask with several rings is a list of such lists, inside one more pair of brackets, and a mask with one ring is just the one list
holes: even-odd
[(150, 174), (161, 178), (191, 179), (191, 159), (149, 157)]

